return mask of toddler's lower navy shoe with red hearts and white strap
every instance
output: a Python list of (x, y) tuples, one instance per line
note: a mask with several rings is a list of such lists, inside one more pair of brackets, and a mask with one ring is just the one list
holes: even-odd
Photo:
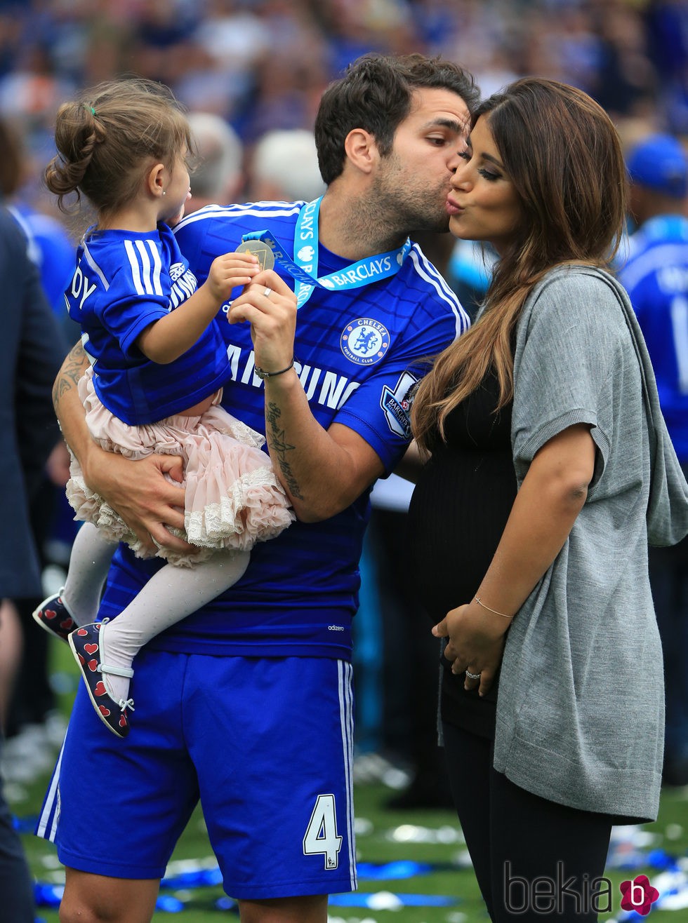
[(134, 711), (133, 699), (115, 699), (110, 696), (103, 682), (103, 675), (111, 673), (119, 677), (133, 677), (134, 671), (122, 666), (103, 664), (100, 629), (103, 622), (82, 625), (68, 638), (74, 659), (77, 661), (81, 676), (89, 690), (91, 704), (96, 714), (109, 730), (117, 737), (127, 737), (129, 733), (129, 713)]

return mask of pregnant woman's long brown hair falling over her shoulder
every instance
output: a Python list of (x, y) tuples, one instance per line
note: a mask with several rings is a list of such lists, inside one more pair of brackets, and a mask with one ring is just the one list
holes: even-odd
[(609, 115), (582, 90), (524, 78), (482, 102), (474, 126), (478, 118), (489, 123), (522, 220), (493, 268), (477, 323), (437, 358), (417, 390), (411, 419), (425, 449), (444, 438), (447, 414), (490, 368), (499, 406), (511, 401), (513, 330), (528, 293), (555, 266), (609, 268), (625, 220), (622, 145)]

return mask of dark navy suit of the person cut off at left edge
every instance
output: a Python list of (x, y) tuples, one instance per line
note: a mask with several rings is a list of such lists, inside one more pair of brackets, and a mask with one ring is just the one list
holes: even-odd
[[(27, 238), (4, 208), (0, 293), (0, 599), (20, 599), (41, 593), (30, 498), (60, 436), (51, 391), (66, 348), (29, 258)], [(0, 906), (4, 919), (33, 923), (29, 869), (1, 796)]]

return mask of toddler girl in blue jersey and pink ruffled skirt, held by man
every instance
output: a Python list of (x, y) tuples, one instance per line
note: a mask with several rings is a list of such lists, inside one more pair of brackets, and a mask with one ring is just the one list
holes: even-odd
[(91, 368), (78, 383), (91, 436), (139, 459), (184, 459), (190, 553), (158, 548), (166, 565), (113, 621), (94, 622), (116, 543), (150, 557), (126, 523), (84, 483), (72, 458), (67, 497), (85, 521), (64, 588), (34, 612), (66, 639), (103, 723), (129, 731), (131, 664), (140, 647), (239, 580), (249, 549), (294, 520), (264, 442), (220, 406), (229, 377), (216, 315), (231, 290), (259, 271), (246, 253), (215, 259), (197, 287), (169, 224), (190, 197), (193, 143), (172, 93), (143, 79), (105, 83), (57, 113), (59, 151), (45, 171), (66, 197), (88, 199), (96, 223), (78, 246), (66, 290)]

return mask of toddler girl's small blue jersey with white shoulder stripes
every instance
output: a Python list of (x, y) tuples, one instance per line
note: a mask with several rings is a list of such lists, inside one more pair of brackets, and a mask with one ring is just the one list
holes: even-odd
[(178, 414), (222, 387), (227, 356), (217, 321), (174, 362), (151, 362), (139, 334), (196, 290), (194, 274), (165, 224), (156, 231), (96, 231), (77, 251), (66, 293), (69, 317), (93, 366), (101, 402), (130, 426)]

